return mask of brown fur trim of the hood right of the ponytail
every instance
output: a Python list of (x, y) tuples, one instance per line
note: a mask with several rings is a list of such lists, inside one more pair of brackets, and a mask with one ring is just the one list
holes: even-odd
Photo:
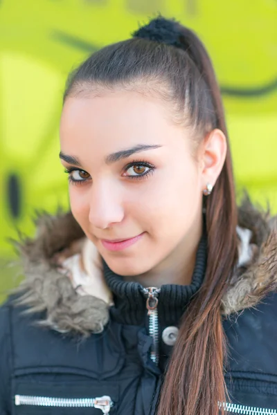
[(255, 243), (255, 249), (251, 263), (236, 270), (222, 298), (224, 315), (256, 306), (277, 291), (277, 216), (260, 213), (245, 199), (239, 210), (239, 223), (251, 230), (250, 242)]

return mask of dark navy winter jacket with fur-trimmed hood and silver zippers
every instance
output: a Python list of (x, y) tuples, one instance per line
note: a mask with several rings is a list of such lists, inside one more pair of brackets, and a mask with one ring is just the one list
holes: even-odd
[[(231, 414), (277, 414), (276, 219), (247, 205), (240, 226), (251, 232), (238, 230), (244, 247), (222, 299), (232, 402), (221, 405)], [(71, 214), (46, 216), (21, 247), (22, 292), (0, 308), (0, 415), (154, 415), (181, 315), (204, 279), (206, 238), (192, 284), (162, 286), (157, 315), (148, 317), (148, 293), (106, 264), (113, 306), (76, 293), (56, 257), (82, 237)]]

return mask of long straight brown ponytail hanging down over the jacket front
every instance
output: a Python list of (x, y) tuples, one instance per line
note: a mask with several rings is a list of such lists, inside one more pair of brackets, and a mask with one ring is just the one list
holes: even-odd
[[(186, 53), (204, 77), (212, 95), (216, 124), (227, 139), (224, 109), (211, 60), (197, 36), (179, 25)], [(191, 301), (181, 322), (179, 337), (161, 391), (157, 415), (217, 415), (226, 400), (221, 299), (237, 262), (237, 207), (231, 153), (213, 193), (206, 201), (208, 262), (204, 284)]]

